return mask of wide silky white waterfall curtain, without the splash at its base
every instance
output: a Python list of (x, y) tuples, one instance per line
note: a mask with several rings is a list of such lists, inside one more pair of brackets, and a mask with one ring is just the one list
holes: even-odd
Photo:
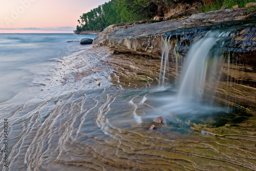
[(224, 63), (222, 46), (230, 32), (209, 31), (189, 49), (183, 66), (178, 99), (199, 100), (214, 95)]

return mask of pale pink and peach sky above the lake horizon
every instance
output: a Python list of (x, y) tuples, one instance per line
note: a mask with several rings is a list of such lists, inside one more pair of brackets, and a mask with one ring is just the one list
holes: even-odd
[(0, 0), (0, 33), (73, 33), (82, 13), (109, 0)]

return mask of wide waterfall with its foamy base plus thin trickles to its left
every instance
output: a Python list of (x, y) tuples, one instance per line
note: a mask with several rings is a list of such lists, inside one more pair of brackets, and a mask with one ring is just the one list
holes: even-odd
[[(225, 60), (223, 44), (230, 35), (231, 32), (209, 31), (191, 45), (182, 69), (180, 86), (177, 90), (170, 90), (175, 91), (173, 95), (159, 100), (162, 110), (166, 111), (166, 117), (168, 113), (200, 115), (219, 111), (212, 106), (212, 102), (222, 76), (221, 70)], [(172, 42), (171, 37), (166, 38), (162, 63), (168, 62), (166, 50), (170, 51), (172, 46), (170, 42)], [(177, 65), (181, 60), (175, 61)], [(165, 77), (162, 72), (166, 70), (166, 66), (165, 63), (161, 65), (160, 78)], [(163, 85), (163, 82), (161, 84)]]

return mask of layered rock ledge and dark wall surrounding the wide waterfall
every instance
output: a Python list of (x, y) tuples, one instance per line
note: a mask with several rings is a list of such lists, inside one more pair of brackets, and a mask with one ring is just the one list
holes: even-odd
[[(232, 36), (225, 42), (223, 54), (229, 60), (225, 61), (222, 82), (219, 83), (216, 96), (256, 111), (255, 20), (255, 10), (238, 8), (193, 14), (163, 22), (136, 21), (109, 26), (94, 39), (93, 44), (109, 46), (113, 54), (133, 53), (157, 59), (161, 58), (164, 38), (168, 37), (173, 41), (169, 56), (176, 59), (177, 56), (186, 57), (190, 44), (207, 31), (228, 30)], [(172, 62), (175, 61), (170, 61), (169, 66), (173, 66)], [(171, 80), (179, 79), (179, 73), (172, 73), (169, 76)]]

